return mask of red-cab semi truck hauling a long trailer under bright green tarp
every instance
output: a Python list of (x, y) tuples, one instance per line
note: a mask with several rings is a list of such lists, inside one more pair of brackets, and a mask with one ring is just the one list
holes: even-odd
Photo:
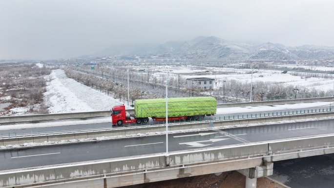
[[(213, 97), (168, 98), (168, 121), (198, 120), (217, 112), (217, 100)], [(166, 99), (140, 99), (134, 101), (134, 114), (125, 111), (125, 105), (112, 108), (112, 125), (147, 124), (166, 121)]]

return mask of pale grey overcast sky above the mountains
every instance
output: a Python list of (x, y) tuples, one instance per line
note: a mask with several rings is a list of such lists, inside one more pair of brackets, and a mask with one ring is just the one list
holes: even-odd
[(215, 36), (334, 46), (333, 0), (0, 0), (0, 59)]

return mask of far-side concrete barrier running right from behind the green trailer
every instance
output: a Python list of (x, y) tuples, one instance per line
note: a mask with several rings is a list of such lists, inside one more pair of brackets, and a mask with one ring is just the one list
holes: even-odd
[(261, 106), (261, 105), (273, 105), (273, 104), (312, 103), (312, 102), (326, 102), (326, 101), (334, 101), (334, 97), (289, 99), (289, 100), (276, 100), (276, 101), (258, 101), (258, 102), (245, 102), (245, 103), (225, 103), (225, 104), (217, 104), (217, 108), (241, 107), (241, 106)]

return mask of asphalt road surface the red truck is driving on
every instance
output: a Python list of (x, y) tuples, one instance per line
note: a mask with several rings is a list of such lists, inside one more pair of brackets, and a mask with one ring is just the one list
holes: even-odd
[[(275, 106), (279, 106), (280, 104), (276, 104)], [(269, 107), (272, 107), (272, 105), (269, 105)], [(332, 106), (331, 106), (332, 107)], [(246, 106), (245, 108), (255, 108), (255, 106)], [(296, 113), (296, 111), (298, 111), (298, 113), (300, 113), (300, 110), (302, 112), (304, 112), (304, 110), (310, 110), (313, 109), (313, 111), (316, 109), (317, 111), (319, 110), (319, 108), (321, 108), (321, 110), (324, 108), (324, 110), (326, 111), (326, 108), (330, 108), (330, 105), (325, 105), (325, 106), (318, 106), (318, 107), (313, 107), (313, 108), (298, 108), (298, 109), (293, 109), (294, 114)], [(332, 111), (334, 110), (334, 107), (332, 108)], [(238, 118), (242, 118), (242, 116), (244, 116), (244, 118), (247, 117), (247, 115), (249, 117), (251, 117), (251, 115), (253, 117), (255, 117), (255, 114), (257, 115), (257, 117), (259, 117), (259, 115), (261, 114), (261, 117), (263, 117), (264, 113), (266, 113), (266, 116), (268, 116), (268, 113), (270, 113), (270, 115), (272, 115), (272, 113), (276, 114), (276, 112), (278, 114), (280, 114), (282, 112), (282, 114), (284, 114), (284, 112), (286, 112), (286, 114), (288, 114), (288, 111), (290, 111), (290, 114), (292, 114), (292, 110), (291, 109), (283, 109), (283, 110), (269, 110), (269, 111), (257, 111), (257, 112), (252, 112), (252, 113), (229, 113), (229, 114), (216, 114), (214, 116), (207, 116), (206, 119), (214, 119), (216, 118), (216, 120), (219, 120), (219, 118), (221, 120), (225, 119), (228, 120), (229, 116), (230, 119), (233, 119), (233, 116), (235, 119)], [(150, 121), (149, 124), (152, 124), (152, 122)], [(158, 122), (153, 122), (153, 124), (158, 124)], [(162, 122), (159, 122), (159, 124), (162, 124)], [(133, 126), (135, 124), (125, 124), (124, 126)], [(15, 126), (15, 125), (13, 125)], [(0, 136), (2, 135), (8, 135), (8, 133), (10, 135), (15, 135), (16, 134), (30, 134), (30, 133), (45, 133), (45, 132), (63, 132), (63, 131), (73, 131), (73, 130), (84, 130), (84, 129), (98, 129), (98, 128), (110, 128), (112, 127), (111, 124), (111, 117), (110, 117), (110, 123), (100, 123), (100, 124), (84, 124), (84, 125), (68, 125), (68, 126), (53, 126), (53, 127), (40, 127), (40, 128), (26, 128), (26, 129), (13, 129), (13, 130), (0, 130)], [(114, 127), (116, 127), (114, 125)]]

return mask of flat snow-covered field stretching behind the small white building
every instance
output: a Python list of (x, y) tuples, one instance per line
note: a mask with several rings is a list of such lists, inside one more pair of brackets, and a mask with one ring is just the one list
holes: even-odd
[[(284, 65), (285, 66), (285, 65)], [(299, 67), (299, 66), (298, 66)], [(308, 66), (305, 66), (308, 67)], [(184, 78), (214, 78), (216, 80), (227, 79), (228, 80), (238, 80), (250, 83), (251, 74), (250, 69), (237, 69), (237, 68), (218, 68), (218, 67), (197, 67), (197, 66), (168, 66), (170, 72), (175, 77), (178, 74)], [(316, 70), (331, 70), (332, 67), (316, 67)], [(152, 70), (166, 70), (165, 67), (152, 67)], [(209, 72), (206, 72), (209, 71)], [(226, 74), (222, 74), (225, 72)], [(203, 75), (199, 75), (204, 73)], [(281, 71), (277, 70), (263, 70), (254, 69), (253, 70), (253, 82), (272, 82), (272, 83), (284, 83), (290, 85), (300, 85), (307, 87), (309, 89), (315, 88), (323, 91), (333, 89), (334, 80), (331, 78), (302, 78), (301, 76), (292, 76), (289, 72), (287, 74), (281, 74)], [(157, 76), (164, 73), (155, 73)], [(217, 86), (222, 86), (223, 82), (218, 82)]]

